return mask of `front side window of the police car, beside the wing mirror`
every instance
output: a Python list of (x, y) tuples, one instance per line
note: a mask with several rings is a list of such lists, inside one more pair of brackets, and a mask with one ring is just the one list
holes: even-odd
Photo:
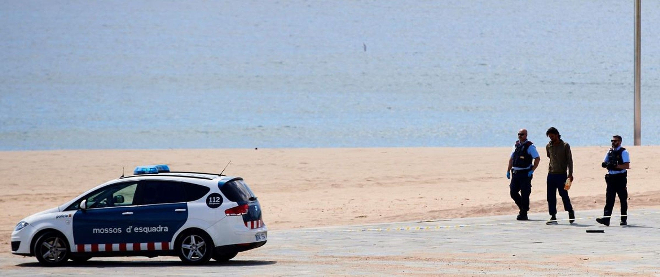
[[(118, 183), (115, 185), (108, 185), (94, 191), (90, 195), (84, 197), (87, 200), (87, 208), (107, 208), (114, 206), (131, 206), (133, 205), (133, 197), (137, 189), (138, 182)], [(79, 200), (69, 206), (66, 210), (77, 210), (80, 208)]]

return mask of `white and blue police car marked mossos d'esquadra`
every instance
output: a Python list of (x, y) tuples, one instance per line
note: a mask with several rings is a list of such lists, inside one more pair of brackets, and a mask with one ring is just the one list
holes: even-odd
[(117, 256), (202, 264), (266, 243), (261, 206), (242, 178), (166, 165), (133, 173), (24, 218), (11, 233), (11, 253), (47, 266)]

